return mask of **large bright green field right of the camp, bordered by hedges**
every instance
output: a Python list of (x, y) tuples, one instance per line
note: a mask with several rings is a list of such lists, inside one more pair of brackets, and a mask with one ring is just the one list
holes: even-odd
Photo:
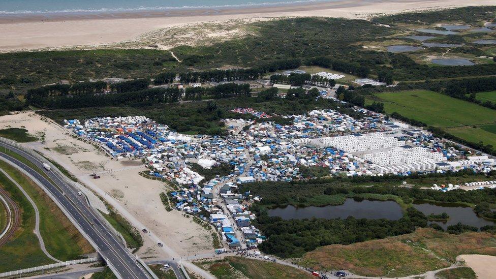
[[(496, 110), (427, 90), (380, 93), (375, 97), (384, 102), (386, 113), (397, 112), (442, 128), (464, 140), (496, 146), (493, 134), (496, 131), (493, 127), (496, 125)], [(372, 99), (367, 99), (366, 103), (370, 104)]]

